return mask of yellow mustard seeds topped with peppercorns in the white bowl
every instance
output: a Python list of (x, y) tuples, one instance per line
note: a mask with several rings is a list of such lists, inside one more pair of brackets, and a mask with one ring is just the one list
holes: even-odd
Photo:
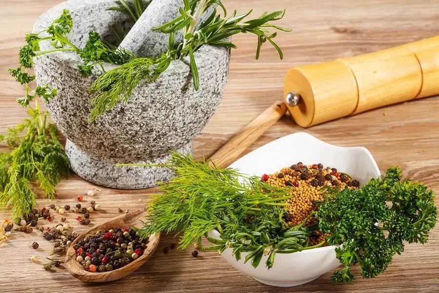
[[(286, 207), (287, 223), (290, 227), (300, 225), (313, 211), (318, 209), (315, 202), (323, 200), (326, 187), (358, 189), (359, 182), (352, 180), (347, 174), (339, 172), (336, 168), (324, 167), (322, 164), (303, 165), (302, 162), (291, 167), (282, 168), (280, 172), (262, 175), (262, 180), (276, 187), (292, 186), (290, 194), (293, 198), (286, 200), (290, 205)], [(304, 226), (316, 223), (311, 217)], [(310, 237), (310, 245), (322, 242), (324, 233), (315, 231)]]

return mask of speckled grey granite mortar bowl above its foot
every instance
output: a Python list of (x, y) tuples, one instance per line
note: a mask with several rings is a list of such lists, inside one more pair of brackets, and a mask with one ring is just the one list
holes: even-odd
[[(47, 28), (62, 9), (67, 8), (74, 21), (70, 39), (82, 47), (89, 31), (95, 30), (105, 36), (110, 33), (109, 24), (126, 21), (120, 12), (108, 10), (115, 4), (115, 0), (63, 2), (43, 14), (34, 25), (34, 31)], [(50, 48), (49, 42), (41, 42), (41, 50)], [(131, 163), (155, 161), (166, 156), (169, 150), (187, 146), (214, 114), (224, 92), (230, 50), (203, 46), (195, 53), (195, 58), (200, 74), (199, 91), (193, 87), (188, 60), (173, 61), (159, 79), (139, 84), (128, 102), (105, 112), (92, 123), (87, 123), (93, 107), (90, 103), (93, 95), (88, 88), (100, 75), (99, 69), (89, 78), (82, 77), (77, 69), (80, 59), (69, 51), (37, 57), (34, 69), (37, 84), (59, 88), (57, 97), (46, 107), (60, 131), (75, 146), (98, 160), (117, 159)], [(106, 69), (114, 66), (105, 65)], [(69, 158), (72, 165), (76, 165), (77, 158)], [(92, 174), (92, 171), (87, 173)], [(145, 175), (139, 180), (148, 178)], [(108, 184), (94, 182), (103, 186)], [(123, 188), (130, 187), (125, 185)]]

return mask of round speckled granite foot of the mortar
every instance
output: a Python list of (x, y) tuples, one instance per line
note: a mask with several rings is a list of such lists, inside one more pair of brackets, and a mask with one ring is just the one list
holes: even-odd
[[(192, 143), (189, 143), (176, 151), (182, 154), (192, 154)], [(167, 182), (173, 177), (173, 173), (166, 167), (117, 167), (116, 164), (124, 164), (125, 159), (109, 159), (95, 157), (81, 151), (75, 144), (67, 140), (65, 152), (71, 161), (73, 171), (82, 179), (110, 188), (141, 189), (156, 186), (157, 182)], [(134, 161), (130, 164), (164, 164), (170, 158), (169, 155), (157, 157), (148, 161)]]

